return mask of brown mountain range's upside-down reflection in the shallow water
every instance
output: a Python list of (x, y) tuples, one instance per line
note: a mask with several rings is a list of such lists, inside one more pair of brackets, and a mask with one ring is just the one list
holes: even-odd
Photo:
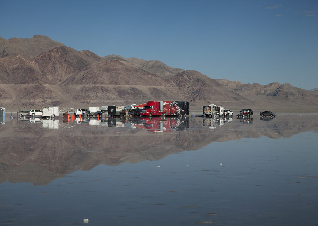
[[(110, 126), (114, 121), (117, 127)], [(43, 127), (43, 123), (47, 126)], [(261, 136), (290, 138), (304, 131), (318, 131), (314, 114), (282, 115), (271, 121), (255, 117), (253, 123), (246, 124), (239, 119), (206, 118), (89, 120), (86, 123), (55, 120), (52, 123), (7, 120), (1, 125), (0, 183), (47, 184), (73, 171), (89, 170), (99, 164), (157, 161), (169, 154), (198, 150), (211, 142)], [(167, 133), (157, 133), (160, 131)]]

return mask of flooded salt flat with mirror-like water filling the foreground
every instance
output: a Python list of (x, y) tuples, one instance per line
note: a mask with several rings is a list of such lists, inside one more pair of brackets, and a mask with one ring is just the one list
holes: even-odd
[(317, 116), (7, 116), (0, 224), (316, 225)]

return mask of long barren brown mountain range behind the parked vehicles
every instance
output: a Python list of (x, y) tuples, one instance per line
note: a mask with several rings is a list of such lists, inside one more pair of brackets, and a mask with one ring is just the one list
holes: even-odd
[(142, 104), (149, 100), (189, 101), (227, 109), (317, 110), (318, 91), (289, 83), (268, 85), (211, 79), (158, 60), (100, 57), (77, 51), (47, 36), (0, 37), (0, 106), (89, 107)]

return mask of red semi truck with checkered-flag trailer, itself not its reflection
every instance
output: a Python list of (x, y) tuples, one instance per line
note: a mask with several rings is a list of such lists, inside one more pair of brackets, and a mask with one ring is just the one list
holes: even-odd
[(155, 100), (148, 101), (142, 108), (141, 116), (189, 115), (188, 101)]

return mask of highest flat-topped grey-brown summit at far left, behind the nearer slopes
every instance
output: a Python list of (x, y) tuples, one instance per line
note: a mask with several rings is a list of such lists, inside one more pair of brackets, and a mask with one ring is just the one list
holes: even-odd
[(34, 35), (32, 38), (10, 38), (8, 40), (0, 37), (0, 57), (20, 53), (25, 58), (34, 58), (58, 46), (65, 45), (44, 35)]

